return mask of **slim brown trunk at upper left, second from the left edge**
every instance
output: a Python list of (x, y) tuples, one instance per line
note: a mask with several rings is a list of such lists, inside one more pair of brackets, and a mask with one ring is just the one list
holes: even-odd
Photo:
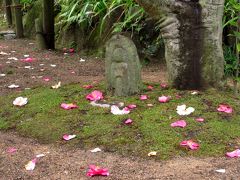
[(15, 10), (15, 29), (16, 29), (16, 37), (23, 38), (23, 22), (22, 22), (22, 6), (20, 5), (20, 0), (13, 0), (14, 10)]

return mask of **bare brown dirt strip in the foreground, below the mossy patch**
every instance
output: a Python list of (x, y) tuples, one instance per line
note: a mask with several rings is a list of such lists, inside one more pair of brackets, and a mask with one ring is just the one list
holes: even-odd
[[(16, 147), (15, 154), (6, 153), (8, 147)], [(36, 164), (32, 172), (24, 165), (35, 155), (49, 152)], [(226, 158), (176, 158), (156, 162), (136, 157), (122, 157), (104, 152), (91, 153), (80, 149), (67, 149), (53, 145), (41, 145), (13, 133), (0, 132), (1, 180), (10, 179), (88, 179), (85, 175), (89, 164), (107, 167), (110, 176), (105, 179), (239, 179), (240, 161)], [(226, 169), (225, 174), (217, 169)], [(96, 177), (94, 179), (103, 179)]]

